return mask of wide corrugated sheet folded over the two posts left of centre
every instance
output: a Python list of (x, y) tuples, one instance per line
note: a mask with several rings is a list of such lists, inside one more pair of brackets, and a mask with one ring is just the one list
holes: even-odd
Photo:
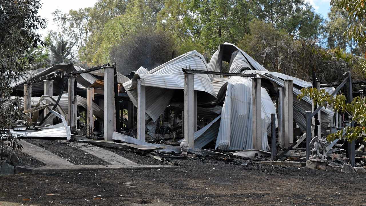
[[(123, 84), (131, 102), (137, 106), (137, 78), (146, 86), (146, 114), (153, 122), (168, 106), (173, 97), (173, 89), (184, 89), (184, 73), (182, 68), (207, 70), (205, 58), (197, 51), (190, 51), (166, 62), (145, 74), (135, 74), (132, 80)], [(211, 80), (206, 74), (194, 76), (194, 90), (203, 92), (198, 102), (216, 99)]]

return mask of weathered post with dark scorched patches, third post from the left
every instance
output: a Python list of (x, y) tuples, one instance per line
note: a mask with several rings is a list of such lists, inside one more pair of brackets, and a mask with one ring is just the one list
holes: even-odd
[(70, 75), (68, 78), (68, 114), (67, 123), (70, 126), (71, 131), (77, 129), (77, 116), (78, 116), (78, 76)]

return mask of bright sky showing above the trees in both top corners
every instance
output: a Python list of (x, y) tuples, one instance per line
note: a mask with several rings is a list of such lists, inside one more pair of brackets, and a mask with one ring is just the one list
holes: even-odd
[[(306, 0), (308, 1), (314, 8), (315, 12), (321, 14), (324, 18), (327, 17), (329, 12), (329, 1), (330, 0)], [(78, 10), (79, 8), (92, 7), (97, 0), (41, 0), (42, 8), (39, 11), (39, 15), (41, 18), (45, 18), (47, 20), (47, 28), (39, 31), (42, 36), (46, 36), (50, 30), (56, 30), (56, 25), (53, 24), (52, 21), (52, 12), (56, 9), (61, 10), (63, 13), (68, 12), (69, 10)]]

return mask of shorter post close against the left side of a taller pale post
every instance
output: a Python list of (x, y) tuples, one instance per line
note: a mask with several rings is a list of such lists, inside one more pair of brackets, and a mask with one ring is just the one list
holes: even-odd
[(284, 119), (284, 110), (285, 110), (285, 92), (284, 88), (278, 88), (278, 141), (281, 148), (288, 147), (289, 143), (288, 139), (285, 138), (285, 119)]

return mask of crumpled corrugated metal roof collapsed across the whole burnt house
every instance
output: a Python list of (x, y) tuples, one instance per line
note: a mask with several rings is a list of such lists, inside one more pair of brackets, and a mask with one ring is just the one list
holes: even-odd
[[(166, 62), (150, 71), (140, 67), (133, 74), (131, 80), (117, 74), (118, 82), (123, 84), (124, 91), (129, 100), (137, 106), (137, 80), (146, 87), (146, 127), (149, 134), (155, 133), (156, 121), (168, 106), (182, 109), (184, 90), (184, 68), (223, 71), (222, 61), (228, 63), (230, 73), (256, 73), (262, 77), (262, 150), (268, 150), (267, 136), (270, 133), (270, 114), (276, 113), (276, 106), (270, 95), (276, 93), (276, 88), (284, 87), (285, 79), (292, 79), (294, 88), (294, 119), (300, 129), (305, 129), (305, 111), (311, 110), (311, 99), (297, 99), (302, 87), (310, 87), (311, 83), (287, 76), (285, 74), (270, 72), (256, 62), (251, 56), (233, 44), (220, 44), (208, 64), (197, 51), (190, 51)], [(23, 79), (15, 80), (12, 88), (15, 92), (23, 91), (23, 84), (40, 77), (52, 77), (57, 72), (71, 72), (84, 70), (73, 66), (71, 63), (59, 64), (45, 69), (33, 71)], [(90, 72), (80, 74), (78, 77), (78, 91), (100, 84), (100, 77), (104, 73)], [(62, 81), (56, 81), (53, 93), (62, 95), (60, 107), (66, 111), (68, 108), (67, 94), (60, 91)], [(334, 88), (325, 88), (331, 93)], [(43, 91), (41, 82), (32, 86), (33, 91)], [(213, 118), (212, 122), (203, 126), (194, 133), (194, 147), (202, 148), (216, 140), (215, 148), (225, 150), (252, 149), (252, 83), (249, 77), (222, 77), (217, 74), (195, 74), (194, 91), (197, 91), (197, 113), (203, 117)], [(20, 96), (20, 95), (18, 95)], [(57, 96), (53, 97), (54, 99)], [(86, 99), (78, 96), (78, 105), (86, 107)], [(39, 102), (39, 97), (32, 97), (33, 105)], [(103, 118), (103, 110), (96, 104), (93, 105), (94, 114)], [(330, 108), (321, 110), (321, 129), (325, 132), (333, 111)], [(277, 117), (276, 117), (277, 126)], [(124, 137), (123, 137), (124, 138)], [(130, 141), (125, 138), (124, 141)]]

